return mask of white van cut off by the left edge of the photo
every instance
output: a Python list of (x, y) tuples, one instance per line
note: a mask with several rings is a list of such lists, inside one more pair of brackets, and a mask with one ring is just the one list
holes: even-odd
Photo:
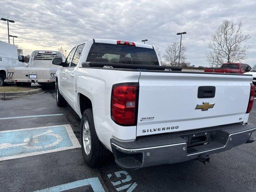
[(24, 56), (21, 56), (15, 45), (0, 41), (0, 86), (4, 85), (9, 67), (26, 67)]

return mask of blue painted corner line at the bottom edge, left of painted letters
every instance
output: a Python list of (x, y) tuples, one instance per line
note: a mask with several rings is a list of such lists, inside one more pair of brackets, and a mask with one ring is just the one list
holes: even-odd
[(70, 189), (74, 189), (74, 188), (78, 188), (86, 185), (90, 185), (94, 192), (105, 192), (98, 177), (74, 181), (71, 183), (66, 183), (66, 184), (62, 184), (62, 185), (34, 191), (34, 192), (61, 192), (61, 191), (70, 190)]

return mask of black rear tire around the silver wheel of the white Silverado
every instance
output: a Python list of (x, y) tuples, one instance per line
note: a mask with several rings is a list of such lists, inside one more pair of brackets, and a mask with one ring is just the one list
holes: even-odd
[[(90, 153), (86, 153), (84, 148), (84, 138), (83, 132), (86, 130), (84, 128), (84, 123), (88, 122), (89, 125), (89, 135), (90, 135)], [(98, 166), (103, 159), (109, 157), (110, 151), (106, 149), (100, 140), (95, 131), (94, 120), (92, 115), (92, 109), (86, 109), (82, 115), (81, 124), (80, 124), (80, 138), (81, 138), (81, 147), (82, 147), (82, 155), (86, 164), (90, 167)], [(87, 141), (88, 142), (88, 141)], [(86, 144), (86, 141), (85, 141)]]

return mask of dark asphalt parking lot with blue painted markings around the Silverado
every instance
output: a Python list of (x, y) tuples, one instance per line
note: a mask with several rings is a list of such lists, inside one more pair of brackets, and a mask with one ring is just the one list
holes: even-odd
[(214, 154), (208, 165), (190, 161), (125, 172), (110, 159), (90, 168), (79, 144), (80, 118), (70, 106), (56, 106), (54, 88), (39, 87), (44, 94), (0, 100), (1, 192), (256, 191), (256, 142)]

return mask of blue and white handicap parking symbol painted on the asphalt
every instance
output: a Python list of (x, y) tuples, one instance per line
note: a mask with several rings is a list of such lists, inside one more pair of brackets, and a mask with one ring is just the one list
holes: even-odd
[(80, 147), (70, 125), (0, 131), (0, 161)]

